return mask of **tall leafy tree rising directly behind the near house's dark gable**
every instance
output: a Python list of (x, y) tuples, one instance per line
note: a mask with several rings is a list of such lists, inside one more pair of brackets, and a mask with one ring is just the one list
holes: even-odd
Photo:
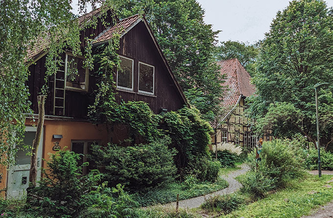
[(145, 14), (166, 59), (191, 104), (214, 120), (221, 76), (214, 64), (218, 31), (205, 24), (196, 0), (115, 0), (120, 18)]

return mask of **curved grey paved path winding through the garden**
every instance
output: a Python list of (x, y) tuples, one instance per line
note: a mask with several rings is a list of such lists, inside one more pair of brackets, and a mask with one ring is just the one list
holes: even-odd
[[(222, 176), (223, 179), (227, 180), (227, 182), (229, 183), (229, 187), (222, 189), (220, 191), (211, 193), (211, 194), (206, 194), (203, 196), (198, 196), (198, 197), (193, 197), (187, 200), (182, 200), (179, 201), (179, 207), (181, 208), (185, 208), (185, 209), (191, 209), (191, 208), (196, 208), (199, 207), (206, 198), (212, 196), (212, 195), (222, 195), (222, 194), (230, 194), (230, 193), (234, 193), (236, 192), (240, 187), (241, 184), (235, 179), (236, 176), (244, 174), (245, 172), (247, 172), (249, 170), (249, 167), (245, 164), (242, 164), (240, 170), (236, 170), (236, 171), (232, 171), (227, 175)], [(171, 202), (168, 204), (165, 204), (163, 206), (176, 206), (176, 202)]]

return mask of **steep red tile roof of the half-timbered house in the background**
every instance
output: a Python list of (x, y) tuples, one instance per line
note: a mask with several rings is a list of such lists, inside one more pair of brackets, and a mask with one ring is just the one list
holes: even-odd
[(249, 97), (256, 88), (251, 84), (251, 76), (240, 64), (237, 58), (218, 61), (220, 72), (226, 75), (227, 90), (223, 97), (223, 106), (235, 106), (240, 95)]

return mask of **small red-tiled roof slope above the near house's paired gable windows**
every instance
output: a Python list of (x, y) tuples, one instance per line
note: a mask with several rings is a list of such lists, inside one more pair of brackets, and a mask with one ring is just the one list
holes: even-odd
[(124, 33), (127, 28), (131, 27), (132, 25), (136, 24), (137, 21), (140, 20), (140, 16), (134, 15), (132, 17), (128, 17), (119, 21), (116, 25), (112, 26), (111, 28), (107, 29), (103, 32), (100, 36), (96, 37), (96, 41), (94, 43), (100, 43), (107, 41), (112, 38), (114, 33), (122, 34)]

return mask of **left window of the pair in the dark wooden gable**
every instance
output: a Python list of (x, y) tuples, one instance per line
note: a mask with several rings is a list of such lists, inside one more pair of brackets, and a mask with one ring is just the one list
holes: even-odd
[(117, 88), (133, 91), (134, 61), (127, 57), (119, 56), (120, 69), (117, 72)]

